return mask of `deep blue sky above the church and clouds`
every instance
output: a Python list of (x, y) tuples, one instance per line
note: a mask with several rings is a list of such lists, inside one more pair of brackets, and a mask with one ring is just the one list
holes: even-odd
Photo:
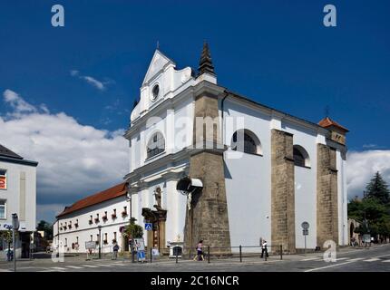
[[(51, 25), (54, 4), (64, 27)], [(336, 27), (323, 25), (327, 4)], [(386, 151), (389, 11), (388, 1), (356, 0), (1, 1), (0, 92), (97, 131), (126, 129), (156, 43), (178, 67), (197, 68), (206, 39), (220, 85), (308, 121), (329, 106), (351, 131), (349, 150)]]

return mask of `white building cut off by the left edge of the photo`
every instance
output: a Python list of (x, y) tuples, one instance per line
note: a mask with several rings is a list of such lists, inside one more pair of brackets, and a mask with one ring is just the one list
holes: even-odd
[[(37, 165), (0, 145), (0, 231), (12, 225), (12, 214), (17, 214), (17, 257), (30, 255), (30, 238), (35, 231)], [(0, 259), (5, 258), (7, 248), (5, 238), (0, 237)]]

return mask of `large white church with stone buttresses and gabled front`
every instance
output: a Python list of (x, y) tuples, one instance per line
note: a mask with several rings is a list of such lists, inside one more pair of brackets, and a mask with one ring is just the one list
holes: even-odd
[[(304, 222), (308, 249), (346, 245), (346, 132), (220, 86), (207, 43), (198, 72), (156, 50), (125, 133), (132, 216), (160, 249), (202, 239), (229, 252), (262, 238), (294, 253)], [(198, 188), (182, 190), (186, 180)]]

